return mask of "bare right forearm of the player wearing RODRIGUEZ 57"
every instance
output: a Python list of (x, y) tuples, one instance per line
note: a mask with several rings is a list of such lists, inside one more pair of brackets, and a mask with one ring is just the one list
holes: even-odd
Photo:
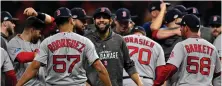
[(93, 63), (93, 67), (98, 72), (99, 78), (104, 83), (104, 85), (105, 86), (112, 86), (111, 81), (109, 79), (109, 74), (108, 74), (106, 68), (103, 66), (102, 62), (100, 60), (96, 60)]

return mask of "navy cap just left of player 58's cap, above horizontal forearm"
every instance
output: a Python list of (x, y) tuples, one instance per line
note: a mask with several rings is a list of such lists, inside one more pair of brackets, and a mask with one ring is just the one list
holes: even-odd
[(169, 10), (165, 16), (165, 23), (168, 24), (177, 18), (182, 18), (183, 14), (178, 9)]

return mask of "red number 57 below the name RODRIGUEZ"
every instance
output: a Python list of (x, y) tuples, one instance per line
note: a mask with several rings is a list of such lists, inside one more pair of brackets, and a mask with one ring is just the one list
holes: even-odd
[[(60, 61), (58, 61), (58, 59), (60, 59)], [(61, 59), (67, 59), (67, 61), (74, 59), (68, 69), (68, 73), (71, 73), (75, 64), (80, 61), (80, 55), (53, 55), (53, 70), (55, 72), (64, 73), (66, 71), (66, 62), (64, 60), (61, 61)], [(57, 65), (62, 65), (62, 68), (58, 69)]]

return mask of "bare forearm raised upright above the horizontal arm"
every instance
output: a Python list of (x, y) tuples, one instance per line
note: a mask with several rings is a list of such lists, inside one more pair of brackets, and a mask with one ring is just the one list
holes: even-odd
[(166, 4), (162, 3), (159, 15), (156, 17), (156, 19), (150, 25), (151, 31), (160, 29), (162, 22), (163, 22), (164, 15), (165, 15), (165, 11), (166, 11)]

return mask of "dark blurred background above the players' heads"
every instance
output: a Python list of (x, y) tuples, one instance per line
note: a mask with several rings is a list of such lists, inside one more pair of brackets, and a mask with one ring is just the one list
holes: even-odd
[[(208, 19), (212, 15), (221, 15), (221, 1), (166, 1), (172, 6), (184, 5), (185, 7), (196, 7), (201, 16), (202, 25), (207, 26)], [(127, 8), (131, 11), (131, 15), (138, 17), (133, 21), (136, 25), (143, 25), (143, 23), (150, 21), (148, 12), (148, 5), (151, 1), (1, 1), (1, 11), (9, 11), (13, 17), (20, 19), (16, 32), (22, 32), (19, 26), (24, 22), (26, 16), (23, 11), (27, 7), (33, 7), (38, 12), (44, 12), (53, 16), (54, 11), (59, 7), (82, 7), (85, 9), (87, 15), (92, 16), (95, 9), (99, 7), (108, 7), (113, 14), (118, 8)]]

